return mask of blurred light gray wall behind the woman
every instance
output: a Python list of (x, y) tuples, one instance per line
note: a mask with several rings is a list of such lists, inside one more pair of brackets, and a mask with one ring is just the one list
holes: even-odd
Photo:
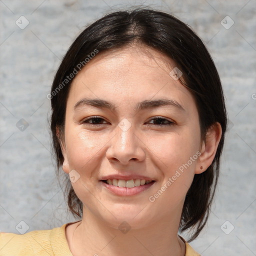
[[(207, 45), (223, 85), (229, 131), (219, 183), (207, 226), (190, 244), (202, 255), (256, 255), (256, 0), (0, 0), (0, 231), (18, 233), (26, 224), (27, 231), (50, 229), (74, 220), (55, 176), (46, 95), (79, 31), (134, 4), (189, 24)], [(22, 15), (29, 21), (24, 29)], [(234, 22), (228, 29), (226, 15)]]

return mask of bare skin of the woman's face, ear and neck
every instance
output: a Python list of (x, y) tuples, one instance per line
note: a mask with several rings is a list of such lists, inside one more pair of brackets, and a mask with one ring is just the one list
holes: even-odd
[[(185, 195), (194, 174), (212, 162), (221, 126), (216, 123), (209, 128), (206, 140), (201, 141), (195, 101), (169, 75), (173, 67), (167, 56), (131, 45), (99, 52), (74, 77), (61, 139), (63, 170), (74, 169), (80, 175), (72, 186), (83, 203), (82, 220), (66, 227), (74, 256), (185, 254), (185, 244), (177, 235)], [(82, 105), (74, 110), (85, 97), (107, 100), (116, 108)], [(159, 98), (177, 101), (184, 111), (170, 105), (135, 110), (137, 102)], [(93, 116), (103, 120), (83, 122)], [(158, 116), (171, 125), (152, 120)], [(126, 131), (118, 126), (123, 118), (131, 125)], [(150, 202), (149, 196), (198, 151), (200, 156)], [(156, 181), (139, 194), (118, 196), (99, 181), (103, 175), (117, 173), (139, 173)], [(127, 233), (118, 228), (123, 221), (131, 227)]]

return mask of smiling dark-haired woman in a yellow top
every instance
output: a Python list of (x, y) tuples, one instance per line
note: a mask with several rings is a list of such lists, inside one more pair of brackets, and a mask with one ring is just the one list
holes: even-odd
[(198, 36), (161, 11), (112, 12), (75, 39), (47, 97), (81, 219), (0, 233), (1, 255), (199, 255), (178, 231), (191, 241), (207, 221), (226, 110)]

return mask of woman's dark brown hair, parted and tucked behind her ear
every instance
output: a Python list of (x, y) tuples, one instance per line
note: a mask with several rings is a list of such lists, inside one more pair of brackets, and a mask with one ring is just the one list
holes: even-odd
[[(205, 139), (207, 128), (216, 122), (222, 128), (212, 163), (204, 172), (194, 175), (185, 196), (179, 230), (194, 229), (188, 240), (191, 241), (198, 236), (210, 212), (219, 174), (227, 117), (220, 79), (211, 56), (201, 39), (188, 25), (174, 16), (150, 8), (115, 11), (89, 25), (74, 40), (59, 65), (51, 93), (48, 94), (52, 107), (51, 135), (57, 172), (63, 163), (63, 155), (56, 127), (63, 134), (66, 101), (72, 82), (69, 75), (74, 73), (74, 69), (77, 70), (79, 63), (85, 65), (84, 59), (90, 57), (95, 49), (99, 52), (117, 49), (135, 41), (169, 56), (182, 71), (180, 82), (191, 91), (195, 99), (202, 139)], [(68, 80), (65, 80), (67, 77)], [(70, 180), (67, 179), (66, 182), (68, 207), (74, 216), (81, 217), (82, 202), (74, 193)]]

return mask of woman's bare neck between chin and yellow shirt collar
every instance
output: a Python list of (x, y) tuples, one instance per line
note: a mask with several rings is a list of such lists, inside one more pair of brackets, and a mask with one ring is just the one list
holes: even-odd
[(122, 223), (123, 228), (116, 229), (83, 207), (82, 220), (73, 231), (70, 250), (74, 256), (184, 256), (185, 244), (177, 236), (179, 220), (177, 214), (139, 229), (129, 229), (126, 222)]

